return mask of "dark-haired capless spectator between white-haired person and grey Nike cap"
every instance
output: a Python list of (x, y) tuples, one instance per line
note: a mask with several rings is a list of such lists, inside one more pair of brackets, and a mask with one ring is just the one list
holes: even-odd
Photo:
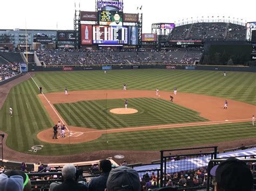
[(111, 171), (111, 162), (110, 160), (104, 159), (99, 162), (100, 175), (96, 178), (92, 178), (89, 182), (89, 191), (104, 191), (106, 188), (107, 178)]

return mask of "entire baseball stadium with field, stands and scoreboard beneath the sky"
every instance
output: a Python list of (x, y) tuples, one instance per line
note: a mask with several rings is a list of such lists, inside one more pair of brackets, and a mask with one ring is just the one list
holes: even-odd
[[(241, 189), (223, 190), (256, 189), (256, 22), (143, 33), (142, 6), (126, 3), (79, 4), (73, 30), (0, 29), (0, 190), (21, 173), (22, 188), (3, 190), (214, 190), (226, 161), (251, 173), (229, 170)], [(61, 189), (74, 166), (83, 183)]]

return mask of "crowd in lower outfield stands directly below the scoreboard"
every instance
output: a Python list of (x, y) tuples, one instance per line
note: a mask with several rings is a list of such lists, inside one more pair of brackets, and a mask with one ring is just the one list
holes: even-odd
[[(39, 60), (46, 65), (110, 65), (110, 64), (134, 64), (134, 63), (185, 63), (191, 64), (200, 59), (201, 51), (193, 48), (170, 49), (170, 51), (156, 52), (73, 52), (73, 51), (37, 51)], [(191, 56), (191, 57), (190, 57)], [(185, 60), (185, 61), (184, 61)]]

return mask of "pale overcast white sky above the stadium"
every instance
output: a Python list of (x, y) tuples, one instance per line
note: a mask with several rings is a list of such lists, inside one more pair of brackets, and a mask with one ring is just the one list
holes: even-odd
[[(1, 1), (0, 29), (57, 29), (73, 30), (73, 18), (80, 2), (80, 10), (95, 11), (95, 0), (3, 0)], [(211, 2), (211, 3), (210, 3)], [(256, 22), (256, 1), (237, 3), (231, 0), (124, 0), (124, 12), (137, 13), (143, 5), (143, 33), (151, 32), (152, 23), (174, 23), (193, 17), (204, 16), (239, 18), (245, 22)]]

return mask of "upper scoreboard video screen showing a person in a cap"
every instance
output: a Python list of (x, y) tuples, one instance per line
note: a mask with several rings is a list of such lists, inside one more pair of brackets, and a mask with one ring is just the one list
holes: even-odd
[(123, 26), (123, 12), (100, 11), (99, 24), (109, 26)]

